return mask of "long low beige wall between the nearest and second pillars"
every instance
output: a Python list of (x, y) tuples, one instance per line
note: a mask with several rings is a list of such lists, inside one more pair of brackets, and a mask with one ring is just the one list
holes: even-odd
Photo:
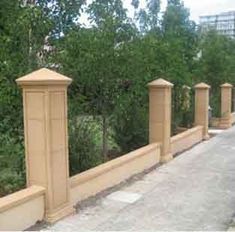
[(147, 170), (160, 160), (160, 145), (150, 144), (70, 178), (73, 205)]

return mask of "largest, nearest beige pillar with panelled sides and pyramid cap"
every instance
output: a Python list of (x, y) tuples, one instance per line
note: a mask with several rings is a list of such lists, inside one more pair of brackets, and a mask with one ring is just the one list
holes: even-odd
[(23, 89), (27, 185), (46, 188), (46, 221), (71, 214), (67, 87), (71, 79), (40, 69), (16, 80)]

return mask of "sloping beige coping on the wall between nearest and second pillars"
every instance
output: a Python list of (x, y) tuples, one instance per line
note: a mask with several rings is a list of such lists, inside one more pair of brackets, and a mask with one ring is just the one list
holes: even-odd
[(123, 155), (119, 158), (116, 158), (114, 160), (108, 161), (104, 164), (101, 164), (97, 167), (91, 168), (85, 172), (79, 173), (75, 176), (70, 177), (70, 187), (76, 187), (79, 184), (82, 184), (90, 179), (94, 179), (97, 176), (100, 176), (114, 168), (117, 168), (121, 165), (124, 165), (126, 163), (129, 163), (141, 156), (144, 156), (146, 153), (160, 148), (160, 144), (159, 143), (152, 143), (149, 144), (147, 146), (144, 146), (142, 148), (139, 148), (135, 151), (132, 151), (126, 155)]

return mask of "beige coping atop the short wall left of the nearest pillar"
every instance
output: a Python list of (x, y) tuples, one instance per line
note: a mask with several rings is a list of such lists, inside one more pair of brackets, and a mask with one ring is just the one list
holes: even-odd
[[(35, 199), (45, 193), (45, 188), (41, 186), (31, 186), (18, 192), (0, 198), (0, 213), (21, 205), (29, 200)], [(14, 219), (12, 219), (14, 220)]]

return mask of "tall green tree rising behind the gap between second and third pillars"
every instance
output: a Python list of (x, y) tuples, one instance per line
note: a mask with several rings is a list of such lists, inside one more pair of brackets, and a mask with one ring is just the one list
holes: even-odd
[(168, 48), (165, 62), (167, 76), (174, 82), (173, 129), (184, 124), (183, 85), (192, 85), (195, 57), (198, 53), (196, 24), (180, 0), (169, 0), (161, 22), (163, 40)]

